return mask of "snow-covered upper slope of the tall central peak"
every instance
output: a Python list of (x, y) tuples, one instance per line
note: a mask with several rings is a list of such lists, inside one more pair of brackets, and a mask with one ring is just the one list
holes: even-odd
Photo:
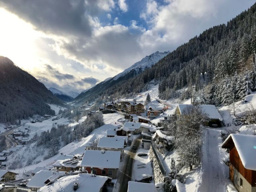
[(155, 63), (157, 61), (162, 59), (168, 53), (169, 53), (169, 51), (168, 52), (159, 52), (159, 51), (154, 52), (151, 55), (144, 57), (142, 60), (138, 61), (137, 63), (134, 63), (131, 67), (125, 69), (122, 73), (117, 74), (114, 77), (114, 80), (117, 80), (119, 77), (125, 75), (126, 73), (128, 73), (132, 69), (139, 70), (139, 68), (141, 68), (142, 71), (144, 71), (146, 68), (150, 68), (152, 65), (155, 65)]

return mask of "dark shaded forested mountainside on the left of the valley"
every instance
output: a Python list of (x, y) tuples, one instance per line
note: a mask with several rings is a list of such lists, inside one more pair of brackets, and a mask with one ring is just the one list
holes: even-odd
[(55, 114), (46, 103), (63, 104), (35, 77), (0, 56), (0, 123)]

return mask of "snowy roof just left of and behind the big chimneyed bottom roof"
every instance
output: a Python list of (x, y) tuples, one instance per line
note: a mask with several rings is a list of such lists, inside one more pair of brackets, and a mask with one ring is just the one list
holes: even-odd
[(41, 170), (37, 172), (27, 183), (28, 187), (35, 187), (35, 188), (41, 188), (45, 186), (46, 184), (44, 183), (46, 180), (54, 180), (60, 175), (64, 175), (66, 172), (65, 171), (46, 171), (46, 170)]

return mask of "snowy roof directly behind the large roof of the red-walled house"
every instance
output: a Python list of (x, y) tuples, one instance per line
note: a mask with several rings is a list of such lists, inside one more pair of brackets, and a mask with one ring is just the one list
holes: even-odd
[(124, 148), (124, 138), (101, 137), (97, 145), (98, 148)]

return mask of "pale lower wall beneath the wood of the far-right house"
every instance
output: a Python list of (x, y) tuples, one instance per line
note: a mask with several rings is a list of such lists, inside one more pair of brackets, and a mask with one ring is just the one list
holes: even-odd
[[(240, 178), (243, 180), (243, 187), (240, 186)], [(234, 167), (234, 185), (239, 192), (256, 192), (256, 187), (251, 184), (241, 175)]]

